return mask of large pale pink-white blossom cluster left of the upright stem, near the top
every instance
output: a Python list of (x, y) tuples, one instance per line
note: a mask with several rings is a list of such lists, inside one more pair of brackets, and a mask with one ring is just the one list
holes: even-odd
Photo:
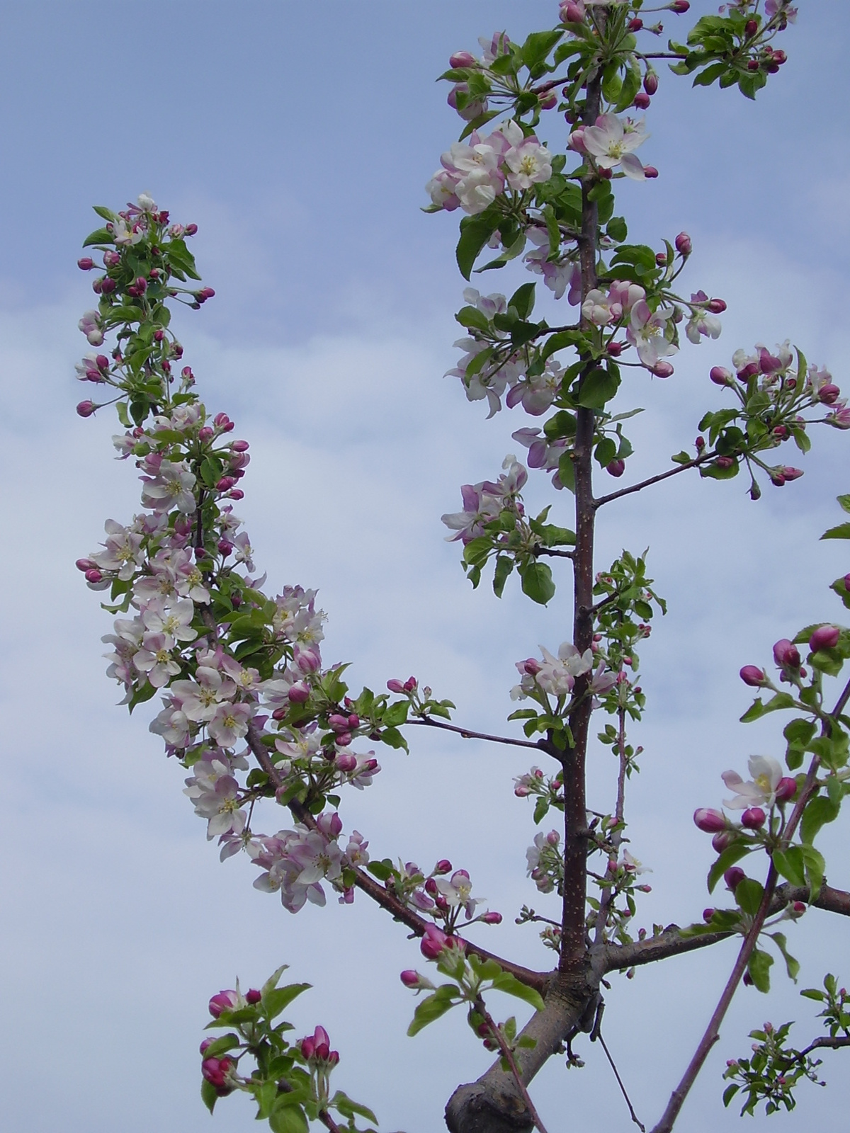
[(552, 176), (549, 150), (515, 121), (502, 122), (486, 137), (473, 130), (468, 143), (454, 142), (440, 161), (442, 169), (426, 186), (432, 203), (470, 215), (484, 212), (508, 189), (522, 194)]

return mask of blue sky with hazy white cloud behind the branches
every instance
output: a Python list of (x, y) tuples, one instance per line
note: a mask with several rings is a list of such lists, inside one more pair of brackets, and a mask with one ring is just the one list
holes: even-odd
[[(662, 74), (641, 151), (661, 176), (618, 184), (631, 236), (658, 246), (688, 230), (683, 286), (729, 303), (717, 342), (683, 349), (668, 382), (635, 372), (620, 394), (618, 408), (647, 410), (630, 429), (628, 477), (663, 470), (692, 444), (696, 421), (723, 399), (708, 369), (738, 347), (790, 338), (845, 384), (850, 12), (839, 0), (799, 7), (782, 43), (789, 62), (755, 104)], [(459, 485), (493, 477), (525, 421), (485, 421), (482, 403), (441, 377), (457, 357), (457, 215), (419, 208), (458, 133), (433, 82), (450, 52), (477, 50), (494, 29), (521, 39), (553, 23), (556, 3), (6, 0), (0, 12), (0, 1124), (255, 1128), (243, 1097), (205, 1113), (197, 1043), (212, 993), (237, 974), (256, 985), (287, 962), (315, 985), (289, 1017), (297, 1034), (318, 1022), (331, 1032), (339, 1087), (375, 1108), (382, 1130), (432, 1133), (452, 1089), (487, 1059), (459, 1016), (405, 1038), (415, 999), (398, 972), (416, 965), (416, 944), (360, 895), (351, 908), (332, 900), (292, 917), (252, 887), (247, 861), (220, 864), (181, 794), (181, 769), (147, 733), (150, 712), (130, 719), (116, 707), (101, 658), (109, 617), (73, 563), (96, 546), (104, 519), (134, 514), (137, 483), (112, 460), (109, 412), (74, 415), (85, 350), (76, 323), (92, 305), (75, 262), (93, 203), (120, 207), (145, 189), (199, 225), (193, 247), (216, 296), (179, 330), (207, 406), (252, 442), (240, 514), (270, 587), (320, 588), (325, 659), (351, 661), (352, 684), (415, 673), (457, 702), (460, 722), (507, 726), (513, 662), (569, 637), (568, 576), (546, 610), (511, 582), (500, 603), (487, 586), (470, 590), (457, 546), (443, 542), (440, 516), (460, 506)], [(665, 23), (680, 37), (689, 19)], [(541, 133), (563, 145), (562, 120)], [(486, 287), (510, 293), (528, 278), (509, 271)], [(546, 298), (542, 309), (552, 308)], [(690, 816), (719, 804), (720, 773), (743, 770), (756, 751), (782, 755), (783, 721), (737, 723), (749, 702), (739, 667), (767, 664), (779, 637), (842, 616), (826, 587), (850, 568), (845, 547), (817, 540), (839, 521), (834, 496), (850, 489), (850, 434), (813, 440), (806, 476), (766, 485), (758, 504), (742, 478), (686, 475), (602, 516), (598, 565), (623, 546), (649, 546), (649, 573), (670, 600), (644, 650), (649, 710), (630, 787), (631, 850), (654, 871), (637, 918), (649, 929), (698, 919), (708, 901), (708, 838)], [(532, 502), (551, 495), (533, 477)], [(558, 496), (553, 519), (569, 525), (570, 506)], [(535, 828), (512, 778), (528, 763), (511, 749), (411, 740), (409, 757), (382, 751), (375, 785), (346, 798), (346, 829), (360, 829), (377, 857), (466, 867), (474, 893), (504, 914), (475, 938), (547, 966), (535, 932), (513, 925), (524, 903), (556, 909), (525, 877)], [(610, 809), (606, 749), (594, 749), (590, 778), (592, 806)], [(286, 825), (271, 813), (269, 833), (275, 823)], [(840, 837), (831, 829), (823, 845), (833, 849), (830, 880), (847, 887)], [(747, 1054), (751, 1028), (796, 1019), (799, 1045), (814, 1037), (813, 1005), (797, 993), (826, 971), (850, 979), (842, 929), (816, 910), (790, 928), (804, 961), (798, 988), (777, 964), (770, 999), (739, 994), (683, 1130), (736, 1125), (720, 1075)], [(632, 982), (614, 978), (605, 1034), (644, 1122), (678, 1081), (733, 953), (726, 943)], [(552, 1059), (535, 1084), (551, 1133), (592, 1119), (626, 1128), (601, 1051), (586, 1040), (577, 1050), (585, 1070)], [(840, 1059), (825, 1054), (830, 1089), (800, 1087), (797, 1113), (775, 1127), (836, 1126)]]

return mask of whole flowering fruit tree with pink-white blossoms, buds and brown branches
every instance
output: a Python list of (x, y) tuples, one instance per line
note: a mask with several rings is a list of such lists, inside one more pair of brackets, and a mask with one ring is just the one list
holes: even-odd
[[(661, 71), (755, 97), (781, 70), (785, 53), (776, 41), (797, 15), (788, 0), (739, 0), (698, 19), (685, 42), (662, 39), (661, 15), (689, 7), (687, 0), (658, 8), (564, 0), (553, 27), (521, 44), (505, 33), (482, 40), (482, 54), (458, 51), (443, 75), (464, 127), (428, 182), (426, 211), (460, 215), (457, 262), (467, 281), (474, 271), (500, 269), (535, 276), (510, 297), (464, 291), (457, 320), (465, 335), (456, 343), (462, 357), (450, 373), (490, 417), (507, 409), (532, 424), (513, 433), (527, 450), (525, 465), (508, 455), (493, 479), (465, 485), (462, 509), (443, 521), (473, 586), (486, 573), (501, 596), (516, 573), (532, 602), (545, 605), (556, 585), (571, 585), (575, 598), (571, 629), (553, 627), (539, 655), (517, 663), (508, 718), (518, 730), (453, 721), (451, 700), (413, 676), (375, 674), (383, 691), (349, 689), (346, 666), (322, 656), (325, 615), (315, 591), (263, 589), (238, 518), (248, 441), (235, 438), (226, 411), (199, 400), (170, 329), (175, 304), (198, 308), (214, 296), (199, 286), (187, 245), (196, 227), (173, 223), (145, 193), (122, 212), (95, 210), (103, 223), (79, 261), (84, 271), (96, 269), (99, 301), (79, 323), (93, 352), (77, 366), (92, 386), (77, 411), (88, 417), (114, 406), (118, 455), (136, 465), (142, 480), (142, 510), (129, 521), (108, 520), (103, 543), (77, 562), (116, 619), (104, 638), (108, 674), (130, 710), (160, 697), (151, 731), (185, 768), (185, 794), (222, 860), (247, 854), (256, 888), (279, 894), (290, 914), (307, 901), (324, 905), (329, 894), (343, 904), (367, 900), (376, 915), (389, 914), (388, 931), (418, 939), (424, 970), (401, 973), (419, 996), (409, 1033), (460, 1007), (473, 1041), (495, 1055), (477, 1082), (449, 1099), (453, 1133), (545, 1133), (529, 1085), (553, 1056), (566, 1051), (568, 1065), (580, 1065), (572, 1043), (583, 1033), (607, 1054), (606, 977), (738, 937), (704, 1037), (653, 1126), (666, 1133), (739, 986), (767, 993), (777, 959), (797, 977), (785, 922), (810, 905), (850, 915), (850, 894), (825, 883), (815, 845), (838, 817), (850, 777), (850, 684), (839, 679), (850, 631), (828, 621), (799, 632), (781, 627), (788, 637), (776, 642), (773, 664), (741, 670), (757, 693), (743, 719), (772, 712), (789, 718), (784, 752), (754, 755), (748, 778), (740, 768), (725, 772), (719, 804), (694, 816), (716, 852), (708, 889), (725, 885), (717, 906), (683, 929), (656, 927), (652, 936), (630, 929), (648, 888), (626, 817), (641, 751), (630, 729), (646, 706), (638, 650), (665, 607), (644, 555), (624, 551), (601, 566), (596, 522), (615, 521), (621, 501), (663, 491), (655, 485), (672, 476), (691, 477), (695, 493), (734, 491), (742, 479), (755, 501), (766, 485), (802, 475), (785, 453), (806, 453), (816, 425), (850, 428), (850, 408), (825, 368), (789, 341), (757, 343), (736, 350), (730, 366), (706, 364), (707, 408), (696, 441), (648, 479), (617, 486), (628, 472), (626, 431), (646, 383), (673, 377), (682, 337), (694, 347), (717, 339), (725, 309), (703, 290), (682, 292), (679, 280), (691, 272), (687, 233), (662, 232), (657, 247), (628, 242), (618, 182), (648, 182), (651, 193), (658, 176), (645, 163), (652, 151), (644, 112)], [(559, 136), (560, 152), (552, 140)], [(566, 299), (556, 325), (535, 316), (538, 283)], [(538, 472), (551, 476), (555, 495), (532, 517), (522, 489)], [(850, 496), (839, 502), (850, 511)], [(849, 538), (850, 522), (825, 537)], [(850, 605), (850, 574), (832, 589)], [(594, 713), (601, 747), (590, 749)], [(539, 931), (539, 971), (501, 954), (502, 914), (483, 906), (468, 870), (443, 858), (440, 845), (434, 864), (420, 867), (405, 860), (403, 846), (392, 854), (382, 847), (379, 858), (363, 833), (347, 828), (347, 793), (371, 789), (380, 759), (407, 749), (416, 726), (509, 746), (515, 794), (530, 801), (534, 823), (560, 812), (562, 820), (551, 830), (542, 826), (527, 853), (545, 914), (511, 910)], [(615, 795), (588, 799), (587, 760), (612, 757)], [(303, 1133), (311, 1122), (332, 1131), (356, 1130), (358, 1119), (375, 1124), (371, 1109), (332, 1090), (339, 1054), (321, 1024), (290, 1041), (292, 1028), (280, 1016), (306, 985), (281, 986), (282, 972), (262, 988), (237, 985), (212, 996), (215, 1033), (201, 1046), (205, 1102), (212, 1110), (221, 1097), (247, 1092), (274, 1133)], [(526, 1014), (533, 1008), (525, 1025), (499, 1019), (505, 994)], [(799, 1049), (788, 1023), (754, 1031), (753, 1056), (728, 1062), (726, 1105), (738, 1094), (749, 1113), (760, 1105), (767, 1113), (791, 1109), (799, 1082), (818, 1080), (815, 1055), (850, 1045), (838, 978), (827, 973), (823, 990), (802, 994), (822, 1004), (825, 1033)], [(628, 1107), (645, 1128), (628, 1097), (628, 1067), (613, 1073), (624, 1119)], [(568, 1126), (563, 1115), (555, 1121)]]

